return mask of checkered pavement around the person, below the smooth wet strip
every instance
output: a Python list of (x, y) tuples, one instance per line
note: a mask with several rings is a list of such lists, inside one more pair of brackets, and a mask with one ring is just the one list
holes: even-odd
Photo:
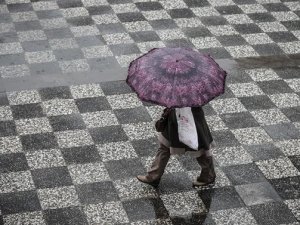
[(1, 93), (0, 223), (299, 224), (299, 72), (228, 76), (204, 107), (217, 181), (203, 190), (187, 156), (171, 158), (158, 190), (135, 179), (155, 154), (161, 108), (124, 81)]

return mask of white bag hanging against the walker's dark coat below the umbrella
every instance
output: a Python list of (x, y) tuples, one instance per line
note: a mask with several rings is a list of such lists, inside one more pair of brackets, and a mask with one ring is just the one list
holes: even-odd
[(176, 108), (179, 141), (194, 150), (198, 150), (198, 134), (194, 116), (190, 107)]

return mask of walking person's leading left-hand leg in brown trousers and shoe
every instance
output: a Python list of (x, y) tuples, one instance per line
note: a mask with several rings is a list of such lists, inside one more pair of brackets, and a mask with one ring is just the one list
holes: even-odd
[(148, 170), (147, 175), (137, 176), (137, 179), (143, 183), (147, 183), (152, 185), (153, 187), (157, 187), (160, 178), (163, 175), (165, 168), (170, 159), (170, 149), (164, 145), (160, 145), (155, 155), (155, 159), (151, 165), (151, 168)]

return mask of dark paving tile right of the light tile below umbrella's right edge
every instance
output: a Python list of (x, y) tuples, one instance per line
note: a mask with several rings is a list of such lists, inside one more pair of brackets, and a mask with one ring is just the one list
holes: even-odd
[(239, 98), (247, 110), (259, 110), (276, 108), (275, 104), (268, 96), (258, 95), (252, 97)]

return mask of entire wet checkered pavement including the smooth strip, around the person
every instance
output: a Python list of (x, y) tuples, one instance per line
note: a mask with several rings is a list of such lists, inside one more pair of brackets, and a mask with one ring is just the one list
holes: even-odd
[[(0, 224), (299, 224), (299, 16), (288, 0), (0, 0)], [(126, 66), (162, 46), (228, 71), (204, 107), (212, 189), (192, 188), (188, 157), (158, 190), (135, 179), (161, 108)]]

